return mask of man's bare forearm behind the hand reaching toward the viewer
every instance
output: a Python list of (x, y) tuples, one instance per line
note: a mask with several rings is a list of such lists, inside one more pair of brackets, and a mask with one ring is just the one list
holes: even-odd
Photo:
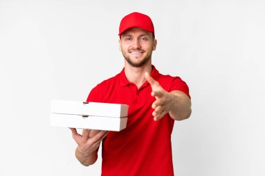
[(169, 115), (174, 120), (185, 120), (191, 114), (190, 98), (181, 91), (174, 90), (172, 94), (172, 106)]

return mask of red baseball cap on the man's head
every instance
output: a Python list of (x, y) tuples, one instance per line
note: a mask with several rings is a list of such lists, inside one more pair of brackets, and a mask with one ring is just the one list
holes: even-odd
[(138, 27), (153, 33), (153, 38), (155, 38), (155, 29), (153, 29), (153, 22), (151, 18), (142, 13), (130, 13), (121, 19), (121, 24), (119, 28), (119, 35), (129, 28)]

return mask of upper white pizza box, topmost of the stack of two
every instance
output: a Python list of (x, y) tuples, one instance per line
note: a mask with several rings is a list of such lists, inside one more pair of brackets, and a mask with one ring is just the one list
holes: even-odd
[(128, 115), (128, 107), (127, 104), (78, 102), (54, 99), (52, 100), (51, 109), (52, 113), (123, 118)]

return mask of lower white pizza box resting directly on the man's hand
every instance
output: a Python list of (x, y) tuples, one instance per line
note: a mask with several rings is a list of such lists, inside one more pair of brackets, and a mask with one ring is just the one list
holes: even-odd
[(102, 116), (83, 116), (51, 113), (50, 125), (55, 127), (121, 131), (122, 129), (126, 128), (127, 117), (109, 118)]

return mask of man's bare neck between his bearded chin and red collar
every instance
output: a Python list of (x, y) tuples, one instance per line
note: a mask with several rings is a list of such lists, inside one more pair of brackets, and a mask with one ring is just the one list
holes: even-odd
[(151, 61), (147, 62), (142, 67), (132, 67), (132, 65), (126, 62), (124, 71), (128, 81), (135, 83), (137, 88), (140, 88), (142, 84), (146, 81), (144, 73), (149, 72), (149, 74), (151, 74), (152, 71)]

